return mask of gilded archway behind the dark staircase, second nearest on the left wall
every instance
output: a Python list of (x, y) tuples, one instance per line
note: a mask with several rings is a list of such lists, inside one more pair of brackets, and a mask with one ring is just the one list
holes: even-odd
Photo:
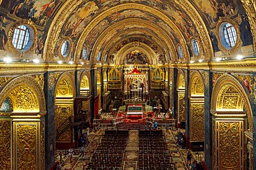
[(55, 136), (57, 141), (72, 142), (75, 82), (70, 73), (60, 76), (55, 87)]

